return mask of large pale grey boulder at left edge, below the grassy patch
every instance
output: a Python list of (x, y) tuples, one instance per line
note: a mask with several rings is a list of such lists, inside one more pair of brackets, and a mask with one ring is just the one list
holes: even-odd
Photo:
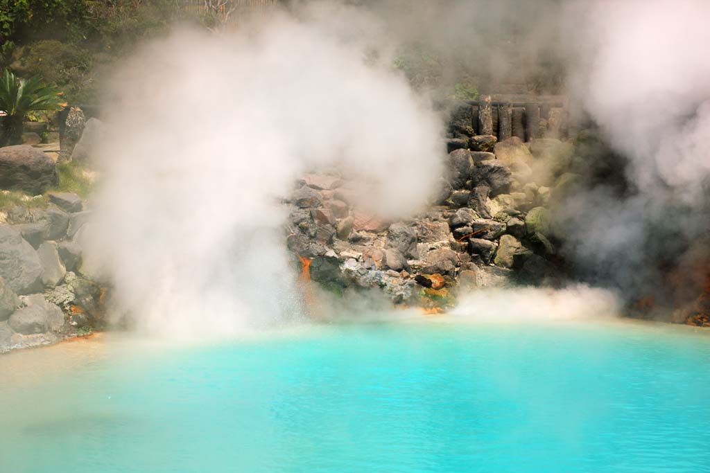
[(0, 225), (0, 277), (17, 294), (42, 289), (42, 265), (35, 249), (17, 230)]

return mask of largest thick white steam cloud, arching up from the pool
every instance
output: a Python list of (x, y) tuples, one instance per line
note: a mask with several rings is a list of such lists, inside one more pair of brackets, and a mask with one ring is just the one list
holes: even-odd
[(383, 216), (427, 201), (439, 119), (373, 58), (363, 33), (376, 25), (344, 8), (219, 37), (181, 30), (116, 75), (91, 253), (139, 329), (229, 334), (300, 318), (280, 200), (303, 172), (366, 182)]

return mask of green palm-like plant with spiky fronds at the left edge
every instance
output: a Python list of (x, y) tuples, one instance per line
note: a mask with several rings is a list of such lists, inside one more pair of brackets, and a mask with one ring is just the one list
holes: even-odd
[(0, 146), (22, 143), (22, 121), (31, 111), (53, 111), (62, 106), (61, 92), (35, 76), (22, 79), (5, 69), (0, 76), (0, 111), (4, 111)]

